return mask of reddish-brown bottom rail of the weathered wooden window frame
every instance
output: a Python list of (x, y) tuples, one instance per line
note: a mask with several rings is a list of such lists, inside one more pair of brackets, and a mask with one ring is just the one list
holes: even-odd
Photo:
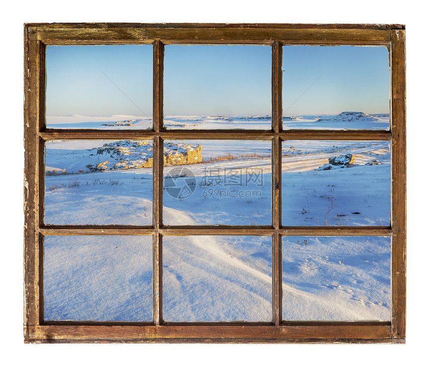
[(158, 342), (176, 339), (180, 342), (201, 342), (219, 340), (234, 343), (239, 340), (285, 343), (293, 340), (325, 341), (346, 340), (391, 340), (389, 325), (39, 325), (28, 326), (27, 342), (120, 341)]

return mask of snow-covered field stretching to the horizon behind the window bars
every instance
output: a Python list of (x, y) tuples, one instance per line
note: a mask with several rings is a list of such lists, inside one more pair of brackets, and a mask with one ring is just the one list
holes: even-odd
[[(85, 128), (132, 120), (122, 117)], [(242, 123), (253, 120), (266, 122)], [(68, 126), (70, 118), (57, 121)], [(373, 123), (388, 128), (385, 121)], [(85, 121), (75, 127), (80, 123)], [(324, 122), (313, 128), (318, 123)], [(103, 128), (130, 128), (115, 125)], [(110, 159), (94, 153), (106, 143), (111, 141), (46, 144), (46, 223), (151, 225), (152, 168), (116, 170), (111, 162), (106, 171), (86, 167)], [(184, 143), (200, 144), (204, 161), (164, 168), (164, 224), (271, 224), (269, 141)], [(130, 161), (137, 153), (127, 155)], [(329, 158), (346, 154), (353, 155), (352, 164), (327, 166)], [(388, 142), (285, 141), (283, 225), (388, 225), (390, 160)], [(45, 237), (45, 319), (150, 321), (151, 243), (145, 236)], [(270, 237), (164, 237), (164, 319), (269, 322), (271, 253)], [(389, 320), (390, 277), (390, 238), (284, 237), (283, 317)]]

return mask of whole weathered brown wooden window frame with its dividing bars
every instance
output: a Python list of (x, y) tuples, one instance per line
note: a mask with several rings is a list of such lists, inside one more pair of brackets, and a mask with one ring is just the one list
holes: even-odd
[[(45, 126), (46, 45), (152, 44), (151, 131), (53, 130)], [(272, 128), (266, 131), (166, 131), (163, 119), (163, 54), (166, 44), (263, 44), (272, 47)], [(384, 45), (390, 51), (391, 131), (283, 131), (282, 45)], [(24, 340), (61, 342), (351, 342), (404, 343), (406, 332), (406, 89), (405, 28), (371, 24), (130, 24), (52, 23), (24, 26)], [(162, 223), (162, 156), (165, 139), (263, 139), (272, 141), (272, 225), (165, 226)], [(51, 139), (151, 139), (154, 147), (153, 226), (45, 225), (44, 142)], [(281, 141), (384, 140), (392, 148), (392, 216), (389, 226), (282, 226)], [(164, 235), (269, 235), (272, 237), (271, 323), (164, 323)], [(152, 235), (153, 322), (45, 322), (42, 267), (45, 235)], [(375, 235), (392, 238), (390, 322), (283, 322), (282, 235)]]

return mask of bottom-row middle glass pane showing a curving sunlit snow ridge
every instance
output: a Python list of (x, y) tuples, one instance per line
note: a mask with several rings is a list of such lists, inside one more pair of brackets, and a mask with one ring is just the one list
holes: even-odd
[(272, 243), (264, 236), (165, 236), (165, 321), (272, 321)]

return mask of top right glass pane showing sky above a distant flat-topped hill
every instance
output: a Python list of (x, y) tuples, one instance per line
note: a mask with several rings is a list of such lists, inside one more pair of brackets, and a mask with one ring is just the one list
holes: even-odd
[(389, 130), (386, 47), (284, 46), (283, 128)]

